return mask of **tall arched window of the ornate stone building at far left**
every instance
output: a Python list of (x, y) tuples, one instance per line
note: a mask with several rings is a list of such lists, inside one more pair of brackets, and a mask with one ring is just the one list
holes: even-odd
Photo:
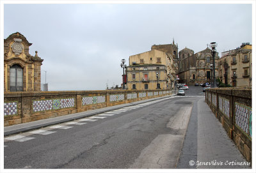
[(10, 67), (10, 91), (23, 91), (23, 69), (19, 64)]

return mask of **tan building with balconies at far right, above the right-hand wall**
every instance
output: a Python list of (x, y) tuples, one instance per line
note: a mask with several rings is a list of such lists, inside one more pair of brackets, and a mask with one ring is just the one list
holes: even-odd
[(221, 53), (218, 77), (231, 86), (252, 86), (252, 45), (242, 43), (237, 49)]

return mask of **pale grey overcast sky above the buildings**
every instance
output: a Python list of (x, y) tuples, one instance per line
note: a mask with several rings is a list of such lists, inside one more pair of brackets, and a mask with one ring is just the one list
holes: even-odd
[(4, 38), (19, 32), (43, 61), (49, 90), (122, 83), (121, 59), (156, 44), (196, 52), (252, 44), (252, 4), (4, 4)]

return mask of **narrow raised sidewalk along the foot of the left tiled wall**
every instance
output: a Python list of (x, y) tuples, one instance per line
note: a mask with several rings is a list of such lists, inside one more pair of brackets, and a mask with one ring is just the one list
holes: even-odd
[[(173, 94), (172, 96), (174, 96), (176, 94)], [(102, 114), (104, 112), (108, 112), (111, 110), (116, 110), (116, 109), (120, 109), (123, 107), (129, 107), (132, 105), (138, 105), (140, 103), (146, 103), (146, 102), (150, 102), (150, 101), (154, 101), (154, 100), (159, 100), (162, 98), (168, 98), (168, 97), (172, 97), (172, 96), (163, 96), (163, 97), (157, 97), (157, 98), (151, 98), (151, 99), (147, 99), (147, 100), (140, 100), (138, 102), (131, 102), (131, 103), (125, 103), (122, 105), (115, 105), (112, 107), (104, 107), (101, 109), (95, 109), (95, 110), (88, 110), (85, 112), (79, 112), (76, 114), (68, 114), (66, 116), (60, 116), (60, 117), (52, 117), (52, 118), (48, 118), (48, 119), (41, 119), (38, 121), (32, 121), (29, 123), (22, 123), (22, 124), (15, 124), (12, 126), (5, 126), (4, 127), (4, 137), (8, 136), (8, 135), (13, 135), (13, 134), (17, 134), (17, 133), (22, 133), (22, 132), (28, 132), (29, 130), (34, 130), (34, 129), (38, 129), (38, 128), (43, 128), (45, 126), (50, 126), (50, 125), (54, 125), (54, 124), (60, 124), (60, 123), (65, 123), (67, 121), (72, 121), (75, 119), (80, 119), (83, 117), (89, 117), (89, 116), (94, 116), (96, 114)]]

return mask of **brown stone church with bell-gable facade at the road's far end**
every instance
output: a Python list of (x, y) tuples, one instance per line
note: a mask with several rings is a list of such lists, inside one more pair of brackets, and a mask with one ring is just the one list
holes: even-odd
[[(215, 54), (215, 76), (218, 77), (218, 52)], [(195, 83), (211, 82), (212, 77), (212, 54), (211, 49), (202, 50), (194, 54), (194, 51), (188, 48), (179, 52), (179, 83), (194, 85)]]

